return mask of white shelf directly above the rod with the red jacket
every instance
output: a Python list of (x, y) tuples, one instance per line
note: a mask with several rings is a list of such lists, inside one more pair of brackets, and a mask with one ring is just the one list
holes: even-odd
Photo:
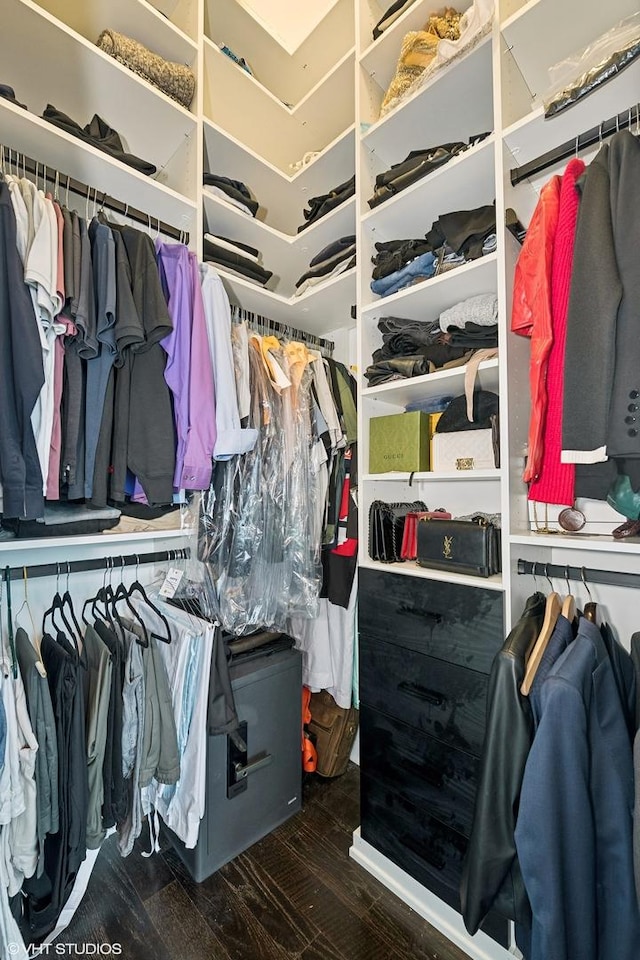
[[(635, 106), (640, 90), (640, 60), (636, 59), (599, 90), (583, 97), (561, 113), (544, 118), (543, 107), (513, 123), (503, 133), (504, 142), (518, 165), (528, 163), (548, 150), (597, 127), (603, 120)], [(562, 166), (566, 161), (562, 161)], [(549, 171), (543, 174), (545, 179)]]

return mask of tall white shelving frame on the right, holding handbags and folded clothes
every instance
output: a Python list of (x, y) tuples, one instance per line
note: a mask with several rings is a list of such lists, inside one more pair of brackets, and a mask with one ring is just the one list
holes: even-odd
[[(621, 543), (614, 541), (611, 536), (545, 534), (530, 530), (527, 491), (522, 482), (529, 423), (530, 345), (526, 338), (509, 332), (513, 275), (520, 246), (503, 226), (507, 207), (514, 208), (520, 220), (525, 225), (528, 224), (541, 187), (554, 173), (561, 173), (567, 161), (515, 188), (510, 181), (510, 171), (513, 168), (546, 153), (558, 144), (578, 137), (612, 116), (624, 114), (632, 106), (635, 107), (640, 89), (638, 62), (552, 119), (545, 120), (543, 108), (536, 106), (534, 109), (532, 103), (535, 95), (540, 97), (544, 93), (549, 67), (570, 56), (581, 46), (594, 41), (623, 17), (635, 13), (637, 4), (632, 0), (613, 0), (606, 6), (585, 6), (579, 0), (562, 0), (560, 3), (553, 0), (530, 0), (528, 3), (498, 0), (493, 30), (489, 37), (436, 74), (425, 87), (414, 93), (395, 111), (378, 119), (380, 102), (393, 76), (402, 38), (408, 30), (423, 26), (433, 9), (431, 4), (416, 0), (381, 38), (372, 43), (371, 29), (386, 6), (388, 4), (377, 3), (376, 0), (360, 0), (356, 26), (356, 117), (361, 131), (357, 146), (358, 367), (362, 374), (370, 363), (373, 350), (381, 345), (381, 336), (377, 330), (380, 317), (393, 315), (435, 319), (444, 308), (459, 300), (477, 293), (496, 292), (499, 304), (499, 358), (480, 365), (478, 381), (483, 389), (500, 394), (502, 466), (495, 471), (470, 471), (460, 476), (418, 473), (411, 478), (411, 483), (407, 474), (370, 475), (367, 468), (371, 417), (400, 413), (407, 403), (420, 398), (443, 393), (460, 394), (464, 390), (465, 371), (464, 368), (439, 371), (426, 377), (391, 382), (373, 388), (368, 387), (361, 376), (360, 586), (361, 590), (369, 591), (366, 596), (363, 594), (363, 602), (381, 604), (381, 610), (386, 610), (385, 603), (390, 604), (389, 610), (395, 611), (393, 619), (398, 634), (403, 630), (410, 631), (410, 627), (402, 620), (402, 603), (407, 603), (405, 597), (411, 598), (408, 600), (409, 607), (413, 609), (415, 604), (417, 613), (421, 591), (433, 588), (434, 584), (436, 588), (445, 582), (461, 588), (469, 587), (477, 591), (478, 595), (483, 589), (488, 589), (503, 597), (504, 636), (520, 616), (524, 601), (535, 588), (531, 575), (518, 575), (519, 559), (539, 562), (537, 586), (542, 590), (546, 588), (542, 573), (545, 563), (555, 564), (556, 570), (559, 567), (564, 569), (566, 565), (575, 568), (576, 565), (581, 567), (584, 564), (587, 567), (629, 573), (640, 571), (640, 548), (637, 542)], [(464, 9), (469, 4), (456, 6)], [(418, 181), (396, 198), (369, 210), (366, 200), (373, 193), (375, 175), (388, 168), (390, 163), (402, 160), (411, 149), (449, 140), (467, 139), (470, 135), (488, 130), (492, 131), (490, 138), (441, 167), (431, 176)], [(580, 155), (588, 162), (596, 152), (597, 145), (589, 152), (581, 151)], [(494, 197), (498, 225), (498, 248), (495, 254), (391, 297), (375, 298), (371, 294), (368, 261), (376, 240), (421, 236), (438, 214), (491, 202)], [(424, 500), (432, 509), (443, 506), (454, 515), (468, 514), (475, 510), (499, 511), (502, 515), (502, 575), (486, 581), (483, 578), (447, 576), (441, 571), (421, 569), (407, 562), (380, 564), (370, 560), (367, 551), (367, 526), (372, 500), (407, 501), (416, 498)], [(365, 574), (369, 581), (366, 587)], [(396, 574), (400, 576), (394, 576)], [(406, 588), (400, 591), (398, 586), (384, 586), (391, 582), (404, 583), (405, 578), (412, 584), (410, 593), (407, 593)], [(561, 592), (566, 592), (566, 587), (560, 584), (559, 580), (554, 581), (554, 586)], [(393, 591), (400, 591), (403, 598), (397, 609), (391, 600)], [(575, 586), (574, 592), (580, 599), (588, 599), (580, 586)], [(622, 632), (620, 634), (623, 642), (626, 642), (629, 634), (637, 628), (630, 611), (628, 589), (625, 592), (625, 588), (621, 586), (605, 587), (598, 584), (593, 593), (594, 599), (602, 605), (603, 617), (607, 617), (609, 605), (615, 608), (616, 626), (620, 631), (628, 630), (626, 636)], [(429, 596), (434, 594), (430, 593)], [(374, 597), (379, 600), (375, 601)], [(385, 600), (385, 597), (388, 599)], [(428, 601), (425, 603), (428, 607)], [(410, 623), (415, 624), (411, 629), (419, 631), (417, 620), (411, 620)], [(381, 639), (387, 638), (381, 636)], [(361, 644), (362, 642), (361, 630)], [(491, 657), (487, 662), (490, 663), (490, 660)], [(413, 661), (411, 666), (414, 667)], [(362, 682), (361, 668), (361, 698)], [(429, 706), (425, 707), (427, 712), (431, 709)], [(398, 717), (391, 704), (388, 715)], [(398, 722), (388, 721), (395, 730), (388, 743), (391, 751), (389, 764), (393, 764), (393, 756), (396, 756), (393, 749), (400, 736), (398, 731), (410, 730), (400, 723), (399, 719)], [(361, 704), (361, 721), (363, 720)], [(371, 723), (370, 720), (369, 724)], [(380, 723), (380, 730), (385, 729), (385, 724), (382, 721)], [(409, 752), (406, 756), (420, 763), (418, 755), (414, 753), (420, 740), (419, 737), (416, 740), (416, 736), (413, 730), (411, 746), (407, 746)], [(375, 808), (367, 799), (368, 762), (364, 726), (361, 737), (365, 744), (364, 753), (361, 748), (363, 810), (368, 809), (368, 815), (371, 816), (371, 811), (375, 812)], [(428, 739), (427, 737), (426, 740)], [(426, 755), (425, 753), (423, 758), (425, 762)], [(417, 781), (415, 778), (411, 780), (413, 774), (409, 761), (402, 769), (405, 767), (409, 790), (409, 793), (403, 794), (406, 799), (410, 797), (412, 789), (409, 782), (415, 789)], [(404, 774), (397, 776), (396, 783), (389, 787), (384, 796), (387, 810), (392, 809), (395, 802), (396, 787), (400, 792), (403, 789), (403, 776)], [(455, 781), (449, 782), (447, 773), (443, 775), (442, 782), (445, 792), (449, 787), (455, 786)], [(420, 784), (422, 785), (422, 781)], [(428, 793), (426, 787), (425, 790)], [(443, 804), (443, 797), (439, 797), (433, 808), (429, 808), (428, 803), (421, 804), (420, 817), (423, 817), (423, 820), (405, 819), (404, 827), (409, 838), (406, 842), (414, 853), (416, 848), (411, 847), (411, 844), (420, 842), (424, 821), (428, 820), (431, 814), (437, 819), (440, 814), (434, 813), (434, 810), (442, 813), (446, 807), (446, 804)], [(407, 810), (409, 806), (406, 806), (404, 813), (404, 816), (409, 818)], [(459, 811), (452, 809), (449, 823), (453, 823), (458, 814)], [(470, 937), (460, 914), (452, 908), (450, 902), (445, 902), (437, 891), (433, 892), (435, 888), (428, 888), (416, 879), (416, 874), (401, 869), (393, 854), (385, 856), (378, 846), (367, 843), (361, 831), (354, 834), (351, 854), (413, 909), (445, 932), (474, 960), (506, 960), (514, 953), (518, 955), (515, 947), (507, 945), (509, 942), (513, 943), (512, 931), (509, 939), (502, 942), (498, 942), (500, 937), (494, 939), (482, 931), (475, 937)], [(438, 854), (442, 854), (442, 848), (436, 850), (436, 859)]]

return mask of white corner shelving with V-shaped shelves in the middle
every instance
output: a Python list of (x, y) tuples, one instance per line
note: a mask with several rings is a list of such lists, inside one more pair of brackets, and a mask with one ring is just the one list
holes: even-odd
[[(205, 229), (256, 247), (274, 274), (261, 287), (220, 270), (232, 302), (314, 333), (348, 325), (355, 302), (355, 270), (294, 296), (313, 256), (355, 229), (352, 199), (297, 233), (307, 200), (354, 172), (353, 24), (351, 0), (339, 0), (310, 39), (287, 51), (237, 0), (206, 5), (205, 169), (243, 180), (260, 210), (248, 217), (205, 186)], [(221, 43), (244, 56), (255, 77)], [(293, 171), (307, 152), (317, 155)]]

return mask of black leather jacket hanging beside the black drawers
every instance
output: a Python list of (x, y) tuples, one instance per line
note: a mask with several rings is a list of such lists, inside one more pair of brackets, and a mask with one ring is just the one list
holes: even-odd
[(485, 733), (471, 838), (460, 899), (469, 933), (489, 910), (528, 926), (530, 910), (516, 856), (520, 786), (533, 740), (533, 715), (520, 693), (526, 657), (544, 620), (546, 598), (534, 593), (491, 666)]

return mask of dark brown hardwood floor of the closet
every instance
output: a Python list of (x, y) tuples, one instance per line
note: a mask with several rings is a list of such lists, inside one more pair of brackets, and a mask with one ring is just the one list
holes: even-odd
[(111, 837), (59, 942), (119, 944), (122, 960), (468, 960), (349, 858), (358, 767), (308, 778), (303, 797), (299, 814), (201, 884), (166, 841), (123, 860)]

